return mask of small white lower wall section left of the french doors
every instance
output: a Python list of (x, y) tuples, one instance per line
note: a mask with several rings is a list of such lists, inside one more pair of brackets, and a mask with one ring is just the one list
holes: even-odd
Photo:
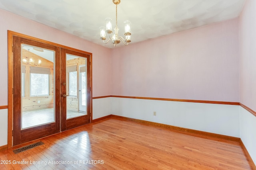
[(7, 145), (8, 109), (0, 109), (0, 147)]

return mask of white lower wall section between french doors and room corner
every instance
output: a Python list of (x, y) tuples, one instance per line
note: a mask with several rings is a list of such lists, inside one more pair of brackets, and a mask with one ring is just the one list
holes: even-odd
[(92, 100), (92, 119), (98, 119), (111, 114), (111, 98)]

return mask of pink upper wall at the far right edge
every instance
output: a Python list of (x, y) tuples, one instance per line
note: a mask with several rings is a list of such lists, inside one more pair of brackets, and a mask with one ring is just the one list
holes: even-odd
[(240, 102), (256, 111), (256, 1), (240, 15)]

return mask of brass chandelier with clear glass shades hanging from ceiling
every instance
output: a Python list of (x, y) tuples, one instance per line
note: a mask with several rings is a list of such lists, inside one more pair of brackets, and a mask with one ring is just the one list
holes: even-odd
[[(112, 40), (112, 44), (114, 44), (114, 47), (116, 47), (117, 44), (119, 44), (121, 41), (124, 43), (124, 45), (128, 45), (128, 43), (131, 42), (131, 28), (130, 28), (130, 21), (124, 21), (124, 35), (125, 39), (123, 37), (118, 37), (118, 31), (119, 28), (117, 26), (117, 5), (120, 4), (121, 0), (113, 0), (113, 3), (116, 4), (116, 27), (114, 28), (114, 32), (112, 32), (112, 19), (106, 18), (106, 27), (100, 27), (100, 39), (103, 41), (103, 43), (108, 43), (110, 40)], [(108, 41), (106, 40), (106, 33), (108, 34)], [(112, 35), (112, 37), (111, 37)]]

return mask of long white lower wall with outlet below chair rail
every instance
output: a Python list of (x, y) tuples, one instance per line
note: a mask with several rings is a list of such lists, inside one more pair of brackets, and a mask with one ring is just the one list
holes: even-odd
[(111, 98), (111, 105), (113, 115), (240, 137), (240, 106), (236, 105), (115, 97)]

